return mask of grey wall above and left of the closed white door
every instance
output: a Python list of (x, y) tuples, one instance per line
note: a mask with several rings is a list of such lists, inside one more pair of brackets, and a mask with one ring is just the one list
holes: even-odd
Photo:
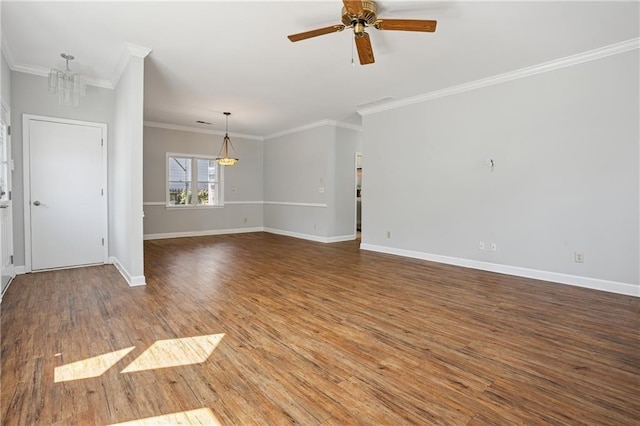
[(13, 242), (14, 264), (24, 266), (24, 188), (22, 114), (107, 123), (109, 144), (112, 139), (114, 93), (112, 90), (87, 86), (87, 95), (80, 99), (80, 106), (58, 105), (55, 95), (48, 91), (46, 77), (11, 72), (11, 145), (15, 161), (13, 172)]

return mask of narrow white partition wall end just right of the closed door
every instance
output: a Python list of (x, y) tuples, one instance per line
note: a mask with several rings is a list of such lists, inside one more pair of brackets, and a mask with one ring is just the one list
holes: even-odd
[(144, 56), (125, 51), (115, 88), (113, 143), (109, 146), (109, 240), (111, 260), (129, 285), (144, 278), (142, 145)]

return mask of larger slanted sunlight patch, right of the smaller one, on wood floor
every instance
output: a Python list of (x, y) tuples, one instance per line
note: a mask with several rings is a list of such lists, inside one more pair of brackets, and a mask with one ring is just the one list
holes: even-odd
[(224, 333), (220, 333), (158, 340), (122, 370), (122, 373), (203, 363), (223, 337)]

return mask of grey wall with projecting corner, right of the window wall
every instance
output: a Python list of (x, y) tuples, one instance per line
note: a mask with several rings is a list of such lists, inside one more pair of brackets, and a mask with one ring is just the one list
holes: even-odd
[(360, 133), (327, 122), (265, 141), (267, 230), (324, 242), (355, 238)]

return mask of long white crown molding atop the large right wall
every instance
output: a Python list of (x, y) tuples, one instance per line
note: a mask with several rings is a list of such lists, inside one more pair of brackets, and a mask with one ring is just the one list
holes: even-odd
[(531, 67), (521, 68), (515, 71), (509, 71), (504, 74), (498, 74), (493, 77), (483, 78), (481, 80), (475, 80), (469, 83), (463, 83), (457, 86), (448, 87), (446, 89), (436, 90), (433, 92), (424, 93), (422, 95), (412, 96), (410, 98), (401, 99), (399, 101), (388, 102), (383, 105), (373, 106), (371, 108), (363, 108), (358, 110), (357, 112), (362, 116), (375, 114), (378, 112), (396, 109), (396, 108), (400, 108), (407, 105), (427, 102), (433, 99), (443, 98), (445, 96), (451, 96), (458, 93), (469, 92), (471, 90), (476, 90), (483, 87), (493, 86), (496, 84), (505, 83), (512, 80), (530, 77), (532, 75), (554, 71), (561, 68), (570, 67), (573, 65), (578, 65), (584, 62), (595, 61), (597, 59), (606, 58), (607, 56), (613, 56), (619, 53), (624, 53), (624, 52), (628, 52), (630, 50), (636, 50), (636, 49), (640, 49), (640, 38), (633, 38), (630, 40), (622, 41), (620, 43), (615, 43), (609, 46), (600, 47), (598, 49), (593, 49), (586, 52), (578, 53), (576, 55), (571, 55), (571, 56), (556, 59), (553, 61), (544, 62), (542, 64), (534, 65)]

